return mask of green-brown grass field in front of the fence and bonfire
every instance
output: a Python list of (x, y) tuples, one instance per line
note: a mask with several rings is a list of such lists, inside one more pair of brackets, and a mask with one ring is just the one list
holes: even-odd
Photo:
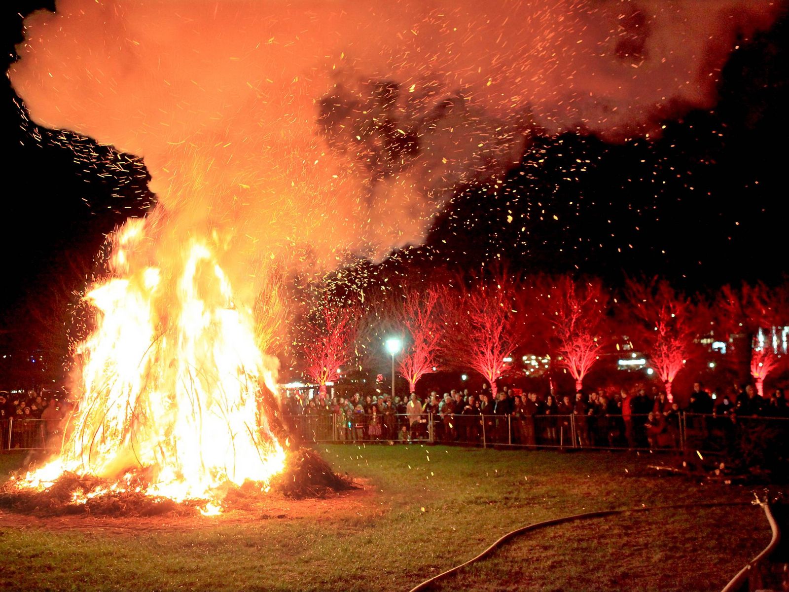
[[(259, 515), (0, 515), (2, 590), (410, 590), (508, 530), (584, 511), (749, 500), (646, 476), (651, 455), (322, 446), (366, 490)], [(19, 455), (0, 455), (6, 474)], [(265, 519), (264, 519), (265, 518)], [(523, 534), (436, 590), (720, 590), (769, 541), (760, 508), (649, 511)]]

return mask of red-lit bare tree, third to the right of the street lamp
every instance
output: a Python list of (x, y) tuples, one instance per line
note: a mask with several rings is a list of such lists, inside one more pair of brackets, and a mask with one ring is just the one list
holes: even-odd
[(599, 279), (574, 280), (569, 275), (542, 276), (536, 279), (536, 287), (541, 294), (536, 305), (551, 328), (552, 352), (580, 391), (606, 342), (608, 294)]

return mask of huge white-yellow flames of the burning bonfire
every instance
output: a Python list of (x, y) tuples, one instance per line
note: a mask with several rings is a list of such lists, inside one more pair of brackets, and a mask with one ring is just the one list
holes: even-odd
[(118, 233), (114, 273), (86, 296), (99, 327), (78, 350), (82, 396), (62, 450), (19, 485), (70, 471), (115, 491), (144, 474), (145, 493), (179, 501), (217, 499), (228, 481), (265, 488), (285, 453), (256, 396), (275, 392), (276, 361), (256, 343), (252, 309), (234, 300), (209, 241), (182, 245), (175, 272), (129, 270), (144, 240), (144, 220)]

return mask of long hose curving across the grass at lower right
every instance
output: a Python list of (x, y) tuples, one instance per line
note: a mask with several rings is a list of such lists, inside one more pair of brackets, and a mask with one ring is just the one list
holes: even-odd
[(732, 579), (731, 582), (728, 583), (723, 590), (723, 592), (733, 592), (734, 590), (737, 590), (736, 584), (742, 583), (742, 581), (744, 581), (744, 578), (747, 575), (747, 571), (750, 569), (750, 567), (757, 560), (760, 560), (762, 557), (766, 556), (772, 549), (775, 548), (775, 545), (778, 544), (778, 540), (777, 540), (778, 531), (777, 531), (775, 519), (772, 518), (772, 514), (769, 511), (768, 504), (766, 504), (765, 502), (755, 500), (755, 501), (739, 501), (739, 502), (707, 502), (702, 504), (672, 504), (667, 506), (642, 506), (641, 508), (588, 511), (588, 512), (584, 512), (583, 514), (574, 514), (571, 516), (563, 516), (561, 518), (544, 520), (543, 522), (527, 524), (526, 526), (521, 526), (519, 528), (516, 528), (515, 530), (510, 530), (510, 532), (498, 538), (496, 541), (492, 543), (492, 545), (488, 547), (488, 549), (485, 549), (479, 555), (472, 557), (465, 563), (456, 565), (454, 568), (447, 569), (447, 571), (443, 571), (438, 575), (432, 576), (432, 578), (424, 580), (424, 582), (417, 584), (417, 586), (414, 586), (411, 590), (409, 590), (409, 592), (421, 592), (421, 590), (428, 590), (428, 588), (432, 586), (432, 584), (436, 583), (439, 579), (444, 579), (448, 575), (454, 574), (455, 572), (460, 571), (462, 568), (465, 568), (467, 565), (471, 565), (481, 559), (484, 559), (485, 557), (491, 555), (495, 549), (499, 548), (505, 542), (510, 541), (510, 539), (517, 537), (519, 534), (524, 534), (532, 530), (539, 530), (547, 526), (556, 526), (559, 524), (573, 522), (574, 520), (603, 518), (604, 516), (626, 514), (627, 512), (651, 511), (651, 510), (680, 510), (682, 508), (720, 508), (720, 507), (728, 507), (728, 506), (746, 506), (753, 504), (759, 504), (765, 508), (765, 513), (767, 514), (768, 520), (770, 522), (770, 526), (772, 528), (772, 541), (770, 541), (770, 544), (767, 546), (767, 548), (765, 548), (765, 550), (759, 553), (759, 555), (757, 555), (748, 565), (746, 565), (745, 568), (742, 568), (742, 570), (738, 573), (738, 575), (735, 576), (735, 579)]

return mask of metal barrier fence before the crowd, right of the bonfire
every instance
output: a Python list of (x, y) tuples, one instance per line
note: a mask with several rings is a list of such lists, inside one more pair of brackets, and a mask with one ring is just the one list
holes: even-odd
[[(652, 417), (650, 417), (652, 416)], [(314, 442), (430, 442), (520, 448), (727, 451), (754, 433), (789, 442), (789, 418), (678, 412), (622, 415), (306, 414), (284, 418)], [(783, 440), (782, 440), (783, 438)]]

